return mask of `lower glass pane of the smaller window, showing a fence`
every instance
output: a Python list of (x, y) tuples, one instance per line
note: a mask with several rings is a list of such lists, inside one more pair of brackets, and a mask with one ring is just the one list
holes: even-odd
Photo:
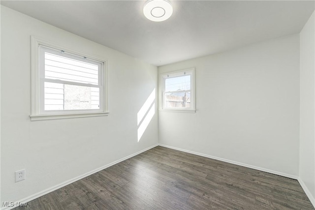
[(190, 91), (189, 92), (172, 92), (165, 93), (165, 108), (189, 108), (190, 107)]

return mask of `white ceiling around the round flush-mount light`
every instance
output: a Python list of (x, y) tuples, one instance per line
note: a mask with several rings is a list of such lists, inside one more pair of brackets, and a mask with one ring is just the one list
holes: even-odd
[(134, 58), (160, 66), (301, 31), (311, 1), (173, 0), (164, 22), (144, 0), (1, 0), (1, 4)]

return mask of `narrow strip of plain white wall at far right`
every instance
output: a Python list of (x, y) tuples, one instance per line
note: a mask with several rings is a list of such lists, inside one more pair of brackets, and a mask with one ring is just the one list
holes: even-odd
[[(315, 14), (300, 33), (300, 180), (315, 206)], [(301, 181), (300, 181), (301, 182)]]

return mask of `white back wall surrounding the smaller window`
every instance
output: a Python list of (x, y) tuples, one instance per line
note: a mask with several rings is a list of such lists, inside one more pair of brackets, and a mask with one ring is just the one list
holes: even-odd
[(159, 143), (299, 175), (299, 34), (158, 67), (195, 67), (196, 113), (159, 112)]

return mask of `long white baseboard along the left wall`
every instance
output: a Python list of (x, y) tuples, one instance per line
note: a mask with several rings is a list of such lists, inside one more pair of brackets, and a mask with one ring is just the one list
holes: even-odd
[(88, 173), (86, 173), (86, 174), (83, 174), (83, 175), (78, 176), (78, 177), (76, 177), (76, 178), (73, 178), (73, 179), (71, 179), (71, 180), (64, 181), (64, 182), (62, 182), (62, 183), (60, 183), (60, 184), (57, 184), (57, 185), (55, 185), (55, 186), (53, 186), (53, 187), (50, 187), (50, 188), (48, 188), (48, 189), (45, 189), (45, 190), (40, 191), (40, 192), (38, 192), (38, 193), (35, 193), (35, 194), (33, 194), (33, 195), (29, 196), (29, 197), (26, 197), (26, 198), (23, 198), (23, 199), (21, 199), (21, 200), (19, 200), (19, 201), (16, 201), (16, 202), (14, 202), (14, 206), (12, 206), (12, 207), (4, 207), (4, 208), (1, 208), (1, 210), (11, 210), (11, 209), (14, 209), (14, 208), (17, 207), (17, 206), (16, 206), (17, 203), (21, 203), (21, 204), (28, 203), (28, 202), (30, 202), (30, 201), (36, 199), (36, 198), (39, 198), (39, 197), (41, 197), (41, 196), (43, 196), (43, 195), (46, 195), (46, 194), (48, 194), (48, 193), (50, 193), (50, 192), (52, 192), (52, 191), (55, 191), (55, 190), (57, 190), (57, 189), (60, 189), (60, 188), (66, 186), (66, 185), (68, 185), (68, 184), (71, 184), (71, 183), (77, 181), (77, 180), (81, 180), (81, 179), (83, 179), (83, 178), (86, 178), (86, 177), (88, 177), (88, 176), (90, 176), (90, 175), (92, 175), (92, 174), (95, 174), (96, 172), (99, 172), (99, 171), (101, 171), (101, 170), (103, 170), (103, 169), (106, 169), (106, 168), (112, 166), (112, 165), (115, 165), (115, 164), (117, 164), (117, 163), (120, 163), (120, 162), (122, 162), (122, 161), (124, 161), (124, 160), (126, 160), (126, 159), (129, 159), (130, 157), (133, 157), (133, 156), (135, 156), (135, 155), (137, 155), (137, 154), (140, 154), (140, 153), (142, 153), (142, 152), (144, 152), (144, 151), (151, 150), (152, 148), (155, 148), (155, 147), (157, 147), (157, 146), (158, 146), (158, 144), (156, 144), (156, 145), (154, 145), (154, 146), (151, 146), (151, 147), (148, 147), (148, 148), (146, 148), (146, 149), (144, 149), (144, 150), (137, 151), (137, 152), (135, 152), (135, 153), (133, 153), (133, 154), (130, 154), (130, 155), (126, 156), (126, 157), (123, 157), (123, 158), (121, 158), (121, 159), (119, 159), (119, 160), (116, 160), (116, 161), (114, 161), (114, 162), (112, 162), (112, 163), (109, 163), (109, 164), (107, 164), (107, 165), (105, 165), (105, 166), (102, 166), (102, 167), (97, 168), (97, 169), (95, 169), (95, 170), (93, 170), (93, 171), (90, 171), (90, 172), (88, 172)]

